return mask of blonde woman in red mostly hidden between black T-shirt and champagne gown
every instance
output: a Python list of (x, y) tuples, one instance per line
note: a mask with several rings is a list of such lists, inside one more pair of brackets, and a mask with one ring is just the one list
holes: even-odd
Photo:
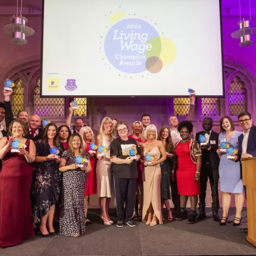
[[(132, 135), (129, 135), (129, 138), (135, 139), (139, 146), (143, 143), (147, 142), (145, 138), (143, 138), (143, 126), (141, 121), (135, 121), (132, 125)], [(141, 161), (137, 162), (138, 168), (138, 179), (137, 179), (137, 201), (138, 202), (138, 214), (136, 213), (136, 207), (133, 212), (133, 219), (134, 220), (142, 220), (142, 205), (143, 205), (143, 180), (142, 180), (142, 171), (143, 171), (143, 164)], [(136, 204), (135, 203), (135, 204)]]

